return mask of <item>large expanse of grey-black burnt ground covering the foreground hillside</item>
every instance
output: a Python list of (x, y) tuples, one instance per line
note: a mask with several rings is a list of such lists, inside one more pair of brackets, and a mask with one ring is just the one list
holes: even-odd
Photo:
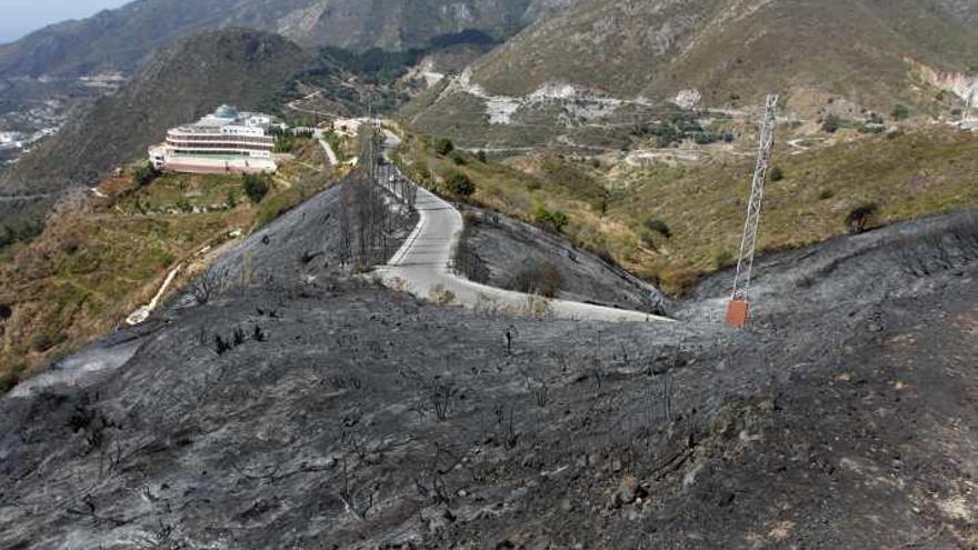
[(621, 324), (347, 277), (339, 193), (99, 344), (128, 362), (0, 401), (0, 547), (978, 544), (975, 213), (771, 257), (732, 331), (722, 273)]

